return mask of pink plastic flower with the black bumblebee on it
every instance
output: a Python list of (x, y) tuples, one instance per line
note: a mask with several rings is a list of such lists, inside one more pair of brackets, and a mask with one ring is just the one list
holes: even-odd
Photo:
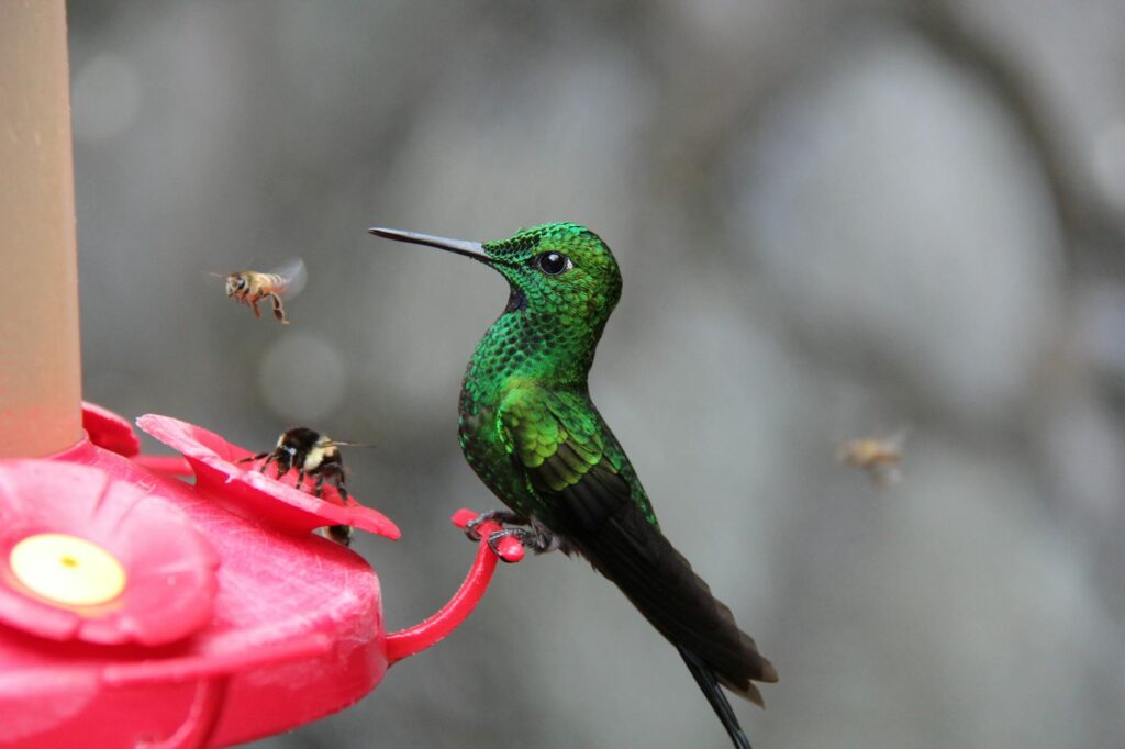
[(296, 471), (276, 478), (272, 472), (259, 472), (256, 463), (240, 463), (255, 453), (201, 426), (155, 414), (138, 418), (137, 426), (182, 453), (196, 473), (196, 486), (205, 491), (210, 489), (210, 496), (243, 517), (290, 532), (351, 525), (390, 540), (402, 535), (381, 513), (353, 499), (343, 499), (332, 486), (325, 485), (321, 498), (295, 486)]

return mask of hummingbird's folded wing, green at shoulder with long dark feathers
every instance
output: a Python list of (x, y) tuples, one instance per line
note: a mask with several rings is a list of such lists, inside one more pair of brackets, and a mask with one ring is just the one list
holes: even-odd
[(713, 686), (716, 676), (762, 705), (753, 682), (776, 682), (774, 667), (660, 532), (628, 459), (588, 397), (514, 390), (498, 409), (497, 426), (540, 502), (537, 517), (680, 648), (728, 730), (734, 714), (729, 705), (726, 715), (721, 709), (726, 700)]

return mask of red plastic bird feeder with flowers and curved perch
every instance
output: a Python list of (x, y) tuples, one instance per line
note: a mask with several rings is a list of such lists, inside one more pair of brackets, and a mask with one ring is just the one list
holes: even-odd
[[(488, 586), (497, 556), (482, 541), (449, 604), (386, 633), (375, 571), (310, 531), (397, 539), (394, 523), (240, 464), (250, 451), (213, 432), (138, 421), (195, 485), (120, 454), (128, 423), (90, 406), (90, 439), (0, 461), (0, 746), (219, 747), (292, 729), (363, 697)], [(504, 539), (500, 556), (523, 547)]]

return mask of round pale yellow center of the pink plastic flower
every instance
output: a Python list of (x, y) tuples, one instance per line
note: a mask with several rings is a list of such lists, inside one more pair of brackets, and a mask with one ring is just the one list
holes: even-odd
[(125, 568), (92, 541), (65, 533), (29, 535), (8, 558), (12, 574), (35, 595), (66, 606), (96, 606), (125, 589)]

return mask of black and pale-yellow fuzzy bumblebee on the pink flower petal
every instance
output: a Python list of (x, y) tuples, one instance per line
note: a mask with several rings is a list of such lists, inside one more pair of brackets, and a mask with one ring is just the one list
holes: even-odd
[[(238, 462), (249, 463), (264, 458), (266, 461), (258, 470), (264, 473), (270, 463), (274, 463), (279, 478), (292, 469), (297, 469), (297, 488), (304, 488), (306, 476), (314, 477), (316, 482), (313, 486), (313, 494), (317, 497), (323, 496), (324, 482), (330, 480), (335, 485), (340, 497), (348, 502), (351, 495), (344, 484), (348, 476), (344, 470), (343, 457), (340, 454), (341, 446), (370, 448), (374, 445), (333, 440), (307, 426), (295, 426), (281, 433), (273, 450), (243, 458)], [(351, 527), (348, 525), (330, 525), (327, 535), (345, 547), (351, 543)]]

